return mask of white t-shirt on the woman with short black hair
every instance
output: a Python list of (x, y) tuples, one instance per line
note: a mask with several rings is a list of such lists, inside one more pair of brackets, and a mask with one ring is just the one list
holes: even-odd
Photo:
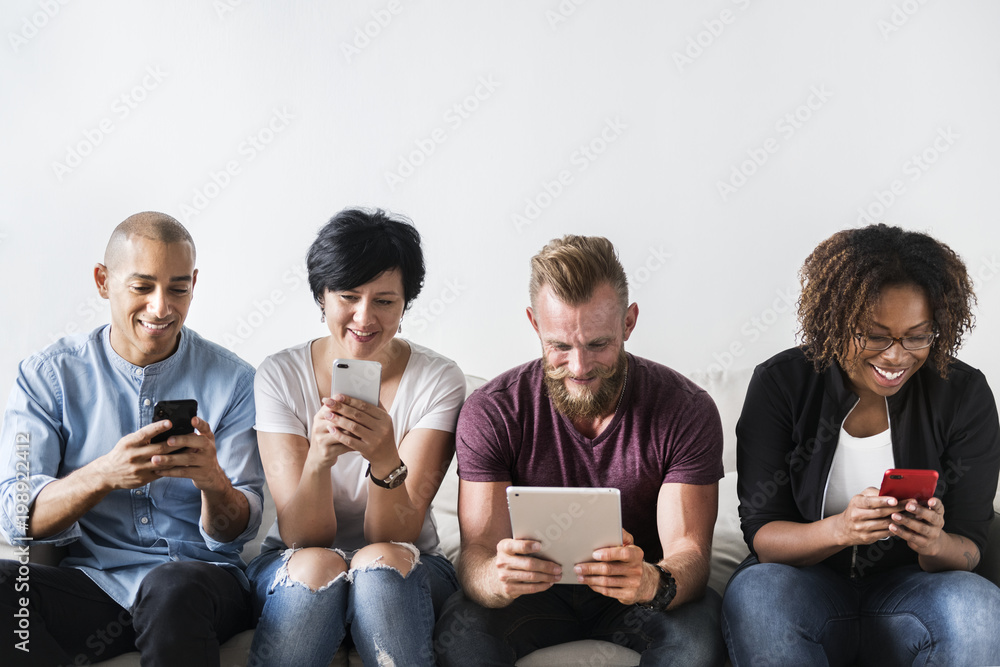
[[(458, 411), (465, 401), (465, 375), (458, 365), (416, 343), (403, 369), (396, 397), (389, 408), (396, 446), (416, 428), (455, 432)], [(312, 341), (272, 354), (261, 363), (254, 379), (258, 431), (291, 433), (309, 438), (313, 416), (320, 409), (320, 393), (313, 374)], [(337, 539), (331, 546), (350, 555), (367, 544), (364, 536), (368, 504), (368, 462), (357, 452), (343, 454), (330, 469)], [(437, 527), (430, 510), (414, 545), (423, 553), (440, 553)], [(287, 545), (294, 546), (294, 545)], [(275, 521), (261, 551), (285, 549)]]

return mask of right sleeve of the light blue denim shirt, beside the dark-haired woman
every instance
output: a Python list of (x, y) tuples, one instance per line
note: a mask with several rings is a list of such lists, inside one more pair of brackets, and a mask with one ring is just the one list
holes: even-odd
[(212, 551), (238, 553), (260, 529), (264, 510), (264, 468), (257, 451), (254, 415), (254, 374), (247, 371), (233, 392), (232, 405), (215, 429), (215, 449), (219, 465), (233, 488), (246, 496), (250, 516), (246, 529), (231, 542), (213, 539), (199, 520), (198, 529)]

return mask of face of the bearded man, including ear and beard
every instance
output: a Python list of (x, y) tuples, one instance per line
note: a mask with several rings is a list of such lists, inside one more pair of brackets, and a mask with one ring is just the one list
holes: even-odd
[(539, 289), (528, 319), (542, 342), (549, 396), (570, 419), (598, 419), (614, 412), (627, 366), (624, 345), (638, 317), (632, 304), (622, 313), (608, 284), (579, 305), (560, 301), (551, 287)]

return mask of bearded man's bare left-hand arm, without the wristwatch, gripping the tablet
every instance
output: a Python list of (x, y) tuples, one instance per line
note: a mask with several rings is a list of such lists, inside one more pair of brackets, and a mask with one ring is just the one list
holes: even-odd
[(465, 594), (484, 607), (505, 607), (518, 596), (544, 591), (562, 574), (555, 563), (529, 555), (538, 542), (511, 539), (508, 485), (460, 480), (458, 487), (458, 576)]

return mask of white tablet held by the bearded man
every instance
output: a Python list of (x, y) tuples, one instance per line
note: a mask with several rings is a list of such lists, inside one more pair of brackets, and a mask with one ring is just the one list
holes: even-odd
[(560, 584), (578, 583), (573, 566), (593, 561), (595, 549), (622, 543), (618, 489), (508, 486), (507, 507), (514, 539), (541, 542), (534, 555), (562, 566)]

